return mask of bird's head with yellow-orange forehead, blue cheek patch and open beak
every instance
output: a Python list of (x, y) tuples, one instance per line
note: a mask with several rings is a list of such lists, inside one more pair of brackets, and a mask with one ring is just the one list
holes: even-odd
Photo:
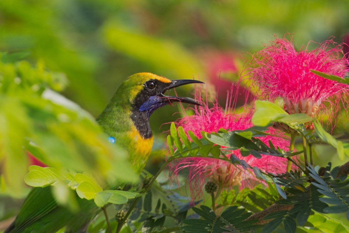
[(151, 73), (137, 73), (122, 82), (118, 91), (126, 93), (125, 98), (128, 99), (133, 111), (144, 112), (150, 116), (154, 110), (172, 102), (200, 105), (189, 97), (165, 94), (169, 89), (189, 83), (203, 82), (191, 79), (170, 80)]

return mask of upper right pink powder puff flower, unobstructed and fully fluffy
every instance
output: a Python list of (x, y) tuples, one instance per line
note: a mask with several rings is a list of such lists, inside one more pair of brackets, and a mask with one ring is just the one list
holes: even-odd
[(344, 77), (348, 61), (340, 58), (343, 54), (341, 45), (334, 48), (330, 45), (335, 45), (332, 39), (319, 43), (312, 51), (308, 51), (308, 46), (296, 51), (292, 37), (290, 41), (276, 38), (266, 44), (265, 49), (253, 54), (245, 75), (249, 76), (250, 85), (258, 86), (256, 95), (259, 99), (275, 101), (281, 97), (285, 111), (290, 114), (303, 112), (317, 117), (322, 109), (335, 117), (341, 103), (348, 102), (349, 86), (310, 71)]

